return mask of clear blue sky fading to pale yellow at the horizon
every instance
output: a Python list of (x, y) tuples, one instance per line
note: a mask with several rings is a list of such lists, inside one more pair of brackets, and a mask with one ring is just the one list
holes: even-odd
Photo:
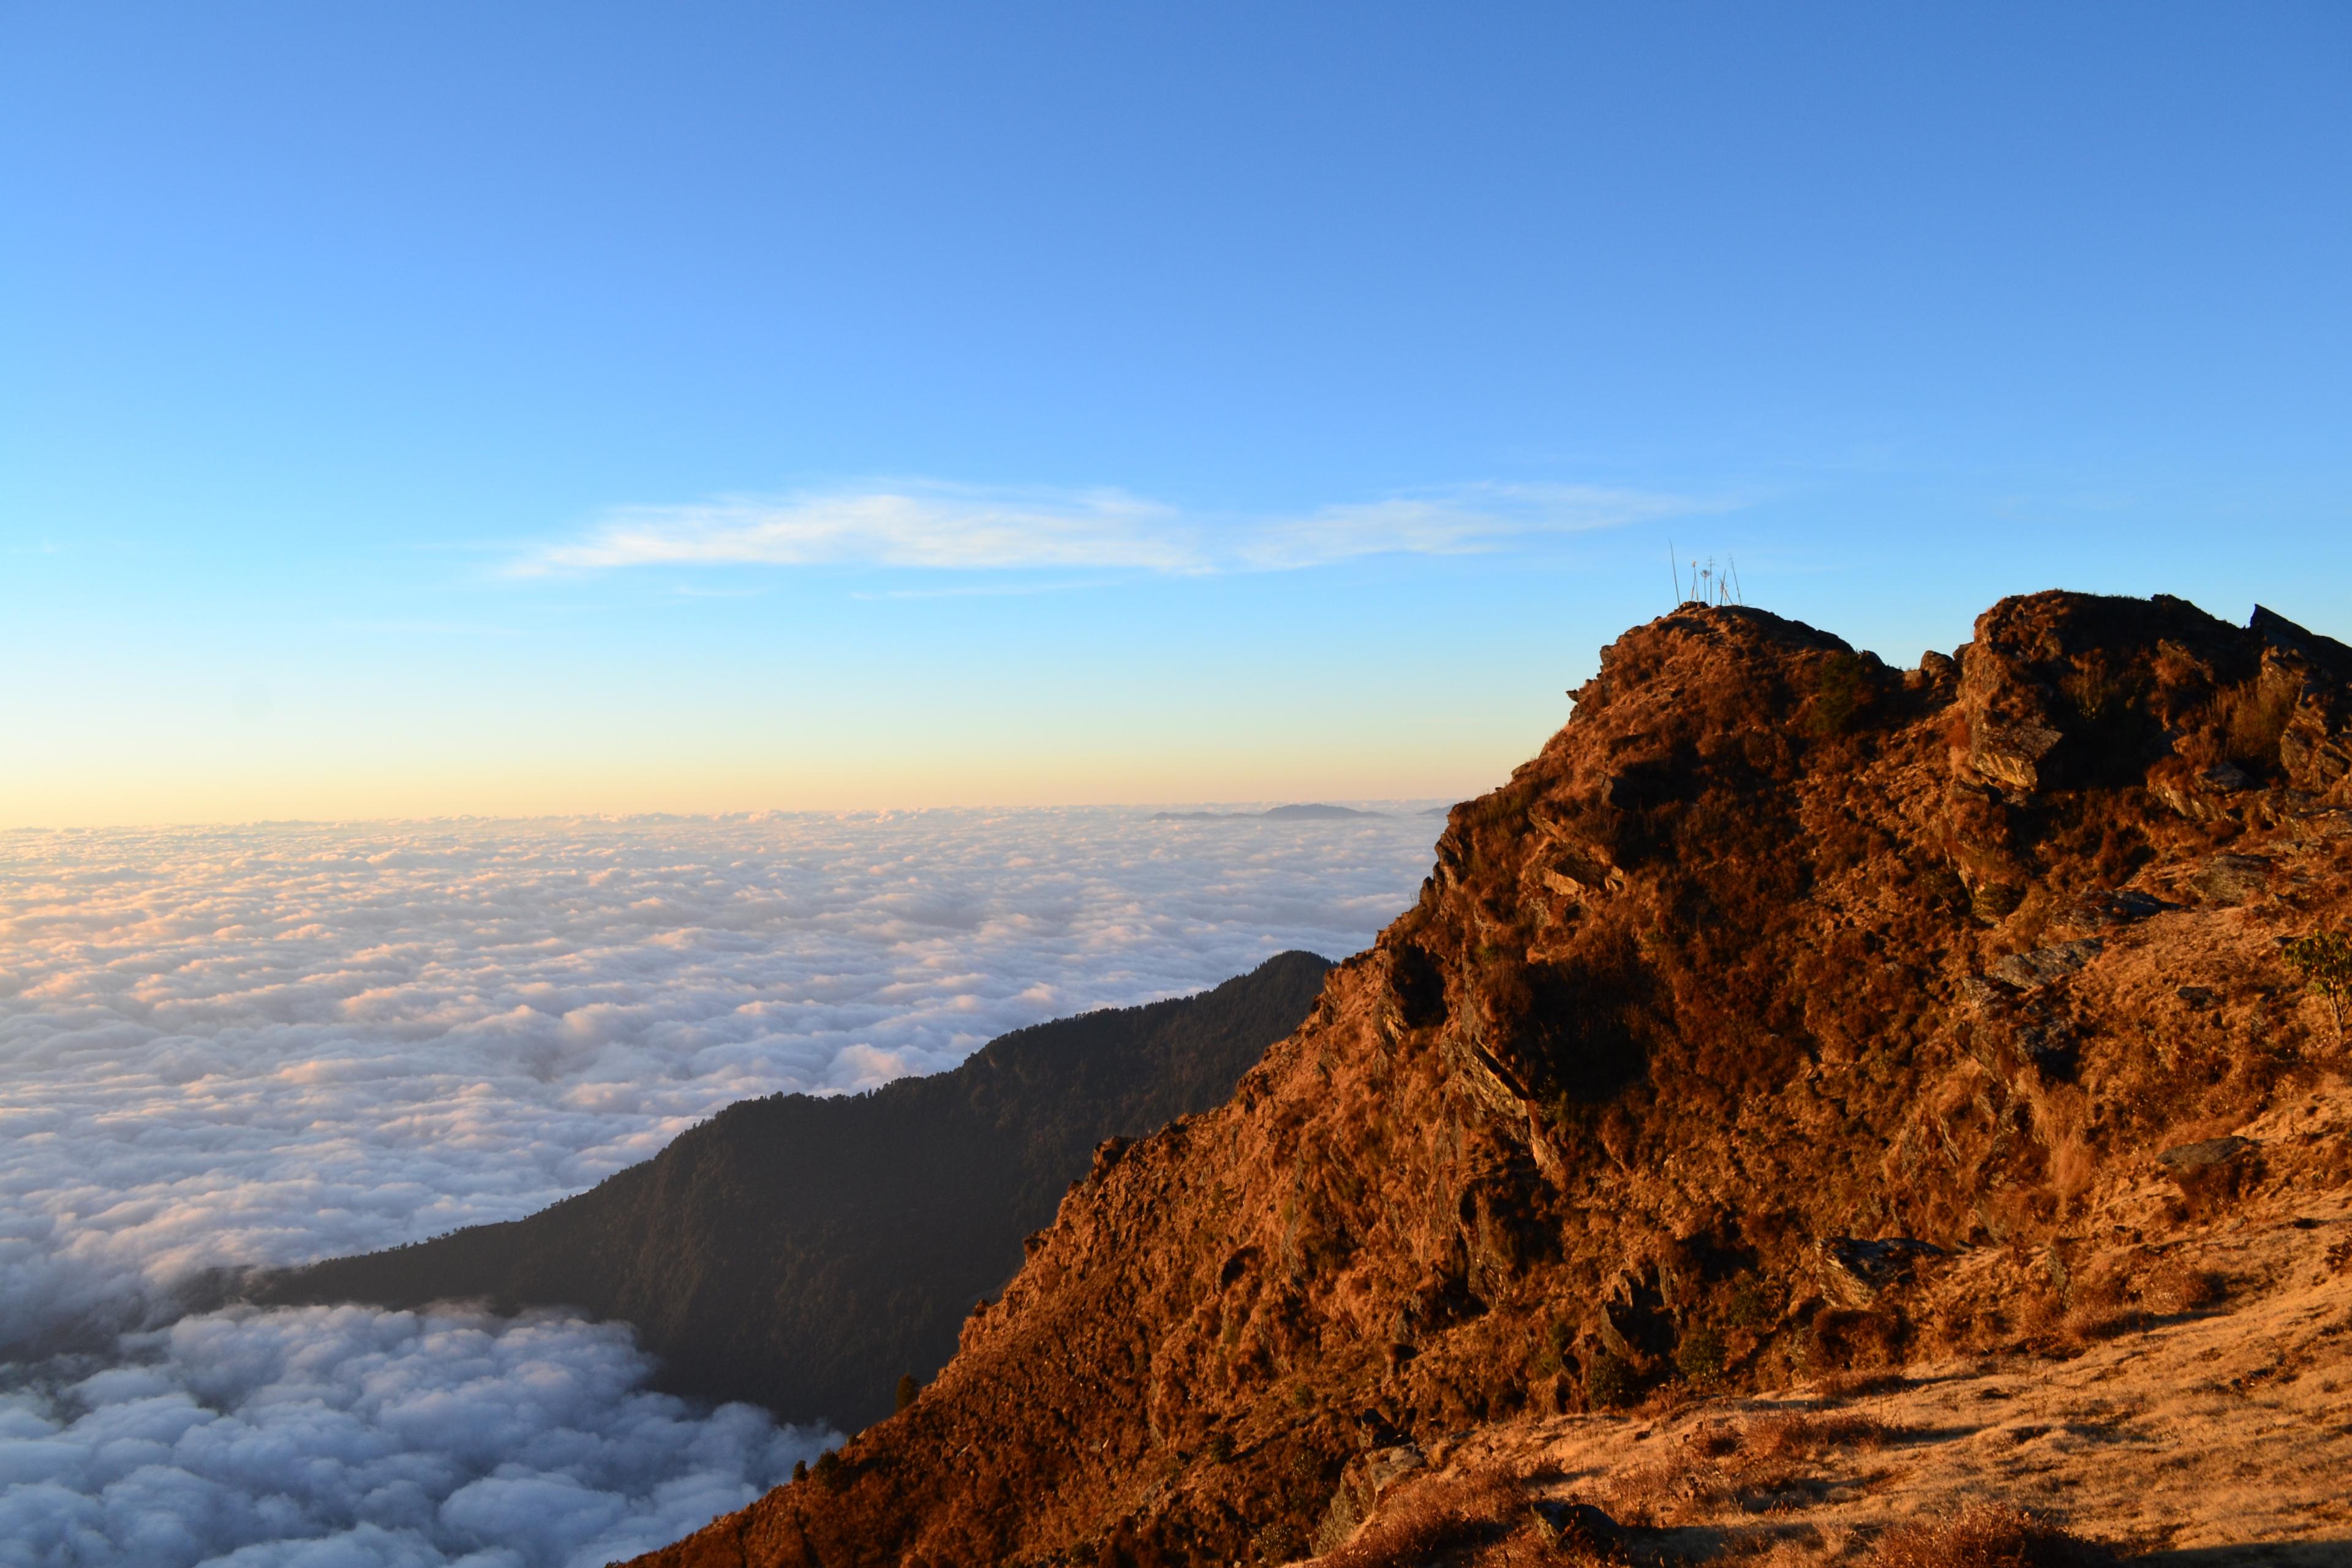
[(2352, 637), (2352, 12), (5, 7), (0, 823), (1463, 795)]

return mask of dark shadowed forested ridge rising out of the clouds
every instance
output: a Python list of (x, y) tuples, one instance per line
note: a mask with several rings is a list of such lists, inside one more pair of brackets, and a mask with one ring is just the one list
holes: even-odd
[(635, 1324), (663, 1387), (856, 1427), (955, 1349), (1105, 1138), (1225, 1100), (1312, 1006), (1284, 952), (1197, 997), (1016, 1030), (953, 1072), (729, 1105), (527, 1220), (263, 1276), (266, 1305), (482, 1298)]

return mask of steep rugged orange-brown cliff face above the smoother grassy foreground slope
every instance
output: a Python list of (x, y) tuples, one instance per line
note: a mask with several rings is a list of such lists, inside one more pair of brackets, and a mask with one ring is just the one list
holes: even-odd
[(2161, 597), (2006, 599), (1910, 672), (1748, 609), (1628, 632), (910, 1410), (647, 1561), (1287, 1561), (1404, 1439), (2030, 1345), (2100, 1194), (2338, 1060), (2279, 938), (2352, 912), (2347, 677)]

